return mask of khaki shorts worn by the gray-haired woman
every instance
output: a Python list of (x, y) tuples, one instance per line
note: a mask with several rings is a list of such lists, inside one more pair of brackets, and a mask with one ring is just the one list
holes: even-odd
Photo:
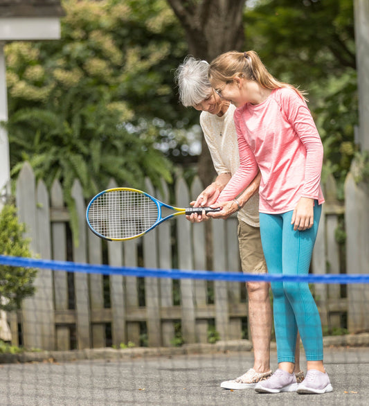
[(262, 251), (260, 228), (239, 220), (237, 232), (242, 271), (246, 274), (266, 274), (267, 263)]

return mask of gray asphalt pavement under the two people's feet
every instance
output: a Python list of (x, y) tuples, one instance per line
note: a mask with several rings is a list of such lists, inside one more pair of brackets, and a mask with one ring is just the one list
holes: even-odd
[[(43, 353), (23, 360), (28, 362), (8, 358), (0, 364), (0, 405), (369, 405), (369, 346), (325, 347), (334, 391), (323, 395), (221, 389), (222, 380), (252, 367), (250, 348), (118, 353)], [(304, 355), (301, 365), (306, 371)], [(275, 348), (271, 367), (277, 367)]]

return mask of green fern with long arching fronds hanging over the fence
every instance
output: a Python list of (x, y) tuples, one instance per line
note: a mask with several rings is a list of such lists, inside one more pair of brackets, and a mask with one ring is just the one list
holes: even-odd
[(145, 176), (156, 186), (160, 186), (161, 177), (170, 182), (170, 164), (153, 148), (152, 141), (129, 133), (119, 124), (114, 112), (98, 107), (89, 112), (74, 111), (73, 106), (62, 111), (65, 116), (42, 109), (24, 109), (11, 116), (9, 139), (13, 150), (18, 151), (12, 155), (11, 175), (17, 177), (24, 161), (29, 161), (35, 177), (43, 179), (48, 188), (59, 180), (78, 240), (71, 196), (75, 179), (79, 179), (88, 200), (106, 188), (111, 178), (121, 186), (133, 187), (143, 187)]

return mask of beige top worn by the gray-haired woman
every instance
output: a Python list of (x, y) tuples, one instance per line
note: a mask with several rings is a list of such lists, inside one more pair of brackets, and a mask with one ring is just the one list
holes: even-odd
[[(237, 132), (233, 121), (235, 106), (229, 105), (222, 117), (201, 112), (200, 125), (208, 144), (217, 174), (233, 175), (240, 166)], [(259, 194), (256, 193), (238, 212), (238, 218), (253, 227), (259, 227)]]

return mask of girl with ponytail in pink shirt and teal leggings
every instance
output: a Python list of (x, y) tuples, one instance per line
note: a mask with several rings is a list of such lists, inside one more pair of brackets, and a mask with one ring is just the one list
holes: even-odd
[[(304, 94), (273, 78), (254, 51), (220, 55), (210, 64), (209, 80), (219, 96), (237, 107), (240, 150), (240, 168), (219, 195), (217, 206), (235, 199), (259, 168), (260, 233), (268, 272), (308, 274), (324, 202), (323, 145)], [(323, 366), (321, 320), (309, 285), (274, 282), (271, 289), (278, 370), (255, 390), (332, 391)], [(307, 359), (307, 375), (300, 385), (293, 373), (298, 330)]]

